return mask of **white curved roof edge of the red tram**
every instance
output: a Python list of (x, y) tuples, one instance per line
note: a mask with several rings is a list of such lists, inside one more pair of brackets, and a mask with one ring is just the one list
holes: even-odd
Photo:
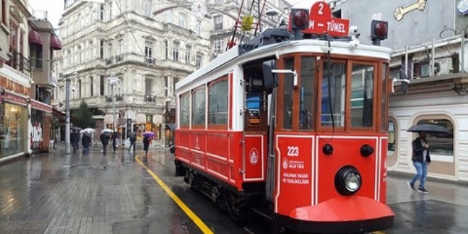
[[(348, 41), (331, 41), (330, 46), (332, 55), (350, 55), (358, 57), (374, 57), (376, 59), (390, 60), (391, 49), (377, 45), (358, 45), (357, 48), (350, 48)], [(242, 47), (235, 45), (230, 50), (216, 57), (216, 59), (208, 62), (204, 67), (197, 69), (195, 72), (184, 77), (176, 84), (176, 89), (185, 87), (187, 84), (194, 82), (196, 79), (205, 77), (206, 75), (214, 72), (219, 67), (233, 66), (237, 63), (238, 66), (257, 60), (262, 57), (272, 57), (275, 55), (286, 55), (294, 52), (315, 52), (325, 53), (323, 48), (328, 48), (328, 41), (317, 39), (302, 39), (302, 40), (289, 40), (283, 43), (274, 43), (270, 45), (263, 45), (249, 52), (242, 54)], [(213, 77), (216, 79), (217, 77)]]

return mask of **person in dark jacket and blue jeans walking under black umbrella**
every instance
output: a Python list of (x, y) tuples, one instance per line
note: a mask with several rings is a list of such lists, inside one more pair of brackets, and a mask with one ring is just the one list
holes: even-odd
[(430, 155), (429, 155), (429, 145), (428, 141), (425, 139), (425, 132), (420, 132), (419, 137), (413, 140), (411, 146), (413, 147), (413, 165), (416, 168), (416, 174), (413, 179), (408, 182), (408, 186), (411, 190), (414, 189), (414, 184), (416, 180), (420, 179), (418, 191), (421, 193), (428, 193), (429, 191), (425, 189), (425, 179), (428, 176), (428, 165), (430, 164)]

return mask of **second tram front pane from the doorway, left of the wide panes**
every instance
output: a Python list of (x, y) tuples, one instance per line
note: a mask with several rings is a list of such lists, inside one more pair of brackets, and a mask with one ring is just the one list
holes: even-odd
[(315, 82), (316, 57), (301, 57), (301, 88), (300, 88), (300, 113), (299, 129), (313, 129), (313, 83)]

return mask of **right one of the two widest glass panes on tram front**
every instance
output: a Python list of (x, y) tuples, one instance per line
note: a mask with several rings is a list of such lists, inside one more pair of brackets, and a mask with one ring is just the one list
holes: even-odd
[(374, 115), (374, 66), (352, 65), (351, 126), (372, 127)]

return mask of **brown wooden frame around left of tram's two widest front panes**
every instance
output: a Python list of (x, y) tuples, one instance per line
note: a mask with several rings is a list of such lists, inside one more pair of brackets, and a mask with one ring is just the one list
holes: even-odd
[[(328, 77), (323, 77), (323, 74), (324, 72), (326, 72), (327, 70), (327, 67), (326, 67), (326, 63), (328, 61), (324, 61), (324, 60), (321, 60), (320, 62), (320, 69), (318, 70), (318, 79), (317, 79), (317, 87), (322, 87), (323, 86), (323, 80), (324, 79), (327, 79), (327, 82), (328, 82)], [(345, 96), (345, 100), (343, 102), (344, 106), (341, 107), (342, 111), (344, 111), (344, 119), (342, 120), (342, 122), (340, 123), (340, 126), (337, 125), (337, 123), (335, 122), (335, 130), (345, 130), (345, 127), (347, 126), (346, 122), (347, 122), (347, 106), (349, 105), (349, 96), (347, 94), (347, 90), (348, 90), (348, 86), (349, 84), (347, 84), (348, 80), (347, 77), (349, 77), (349, 74), (350, 74), (350, 60), (349, 59), (331, 59), (330, 62), (333, 64), (333, 63), (338, 63), (338, 64), (342, 64), (342, 65), (345, 65), (345, 72), (344, 72), (344, 75), (345, 75), (345, 91), (342, 94), (344, 94)], [(343, 75), (343, 74), (341, 74)], [(333, 80), (333, 79), (332, 79)], [(328, 92), (328, 89), (325, 89), (325, 91)], [(316, 120), (317, 120), (317, 123), (318, 123), (318, 126), (319, 126), (319, 129), (322, 130), (322, 131), (331, 131), (333, 129), (333, 126), (324, 126), (323, 125), (323, 121), (322, 121), (322, 106), (323, 106), (323, 91), (322, 91), (322, 88), (317, 88), (317, 92), (318, 92), (318, 100), (317, 100), (317, 105), (316, 105), (316, 109), (317, 109), (317, 116), (316, 116)], [(326, 94), (328, 95), (328, 94)], [(326, 113), (327, 116), (330, 116), (330, 113)]]

